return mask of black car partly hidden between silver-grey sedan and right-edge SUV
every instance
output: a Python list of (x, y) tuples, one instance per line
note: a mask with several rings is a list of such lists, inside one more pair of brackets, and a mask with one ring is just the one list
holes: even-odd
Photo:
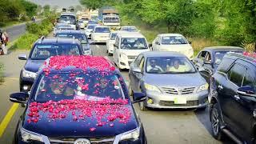
[(210, 76), (217, 70), (218, 65), (222, 62), (222, 58), (228, 52), (242, 53), (244, 51), (241, 47), (235, 46), (213, 46), (206, 47), (201, 50), (196, 58), (193, 59), (194, 65), (210, 83)]

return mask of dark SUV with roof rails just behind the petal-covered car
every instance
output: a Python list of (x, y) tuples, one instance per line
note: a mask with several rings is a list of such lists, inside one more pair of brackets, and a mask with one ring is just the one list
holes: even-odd
[(39, 38), (30, 50), (30, 55), (20, 54), (18, 59), (26, 60), (19, 77), (20, 91), (30, 90), (42, 63), (54, 55), (82, 55), (82, 44), (74, 38)]

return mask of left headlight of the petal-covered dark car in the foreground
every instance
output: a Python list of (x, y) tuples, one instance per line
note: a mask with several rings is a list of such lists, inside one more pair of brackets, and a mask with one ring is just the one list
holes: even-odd
[(38, 141), (38, 142), (44, 142), (42, 135), (34, 133), (30, 130), (26, 130), (24, 128), (21, 128), (21, 135), (22, 135), (22, 141), (23, 142), (31, 142), (33, 141)]

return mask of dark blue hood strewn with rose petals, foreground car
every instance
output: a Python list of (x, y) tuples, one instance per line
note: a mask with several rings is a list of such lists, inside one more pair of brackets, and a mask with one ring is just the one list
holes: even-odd
[[(34, 110), (34, 107), (38, 107), (38, 109)], [(96, 104), (94, 106), (90, 105), (93, 109), (63, 110), (66, 111), (63, 116), (62, 110), (55, 112), (58, 109), (54, 108), (54, 110), (49, 112), (49, 106), (48, 110), (40, 110), (39, 107), (31, 106), (30, 104), (23, 119), (23, 127), (30, 131), (36, 130), (38, 134), (46, 135), (49, 138), (60, 136), (111, 137), (138, 127), (138, 118), (134, 115), (134, 109), (130, 103), (126, 105)], [(95, 110), (94, 107), (98, 108)], [(82, 114), (82, 110), (89, 110), (90, 112)], [(35, 114), (30, 115), (31, 111), (34, 111)], [(53, 114), (58, 116), (53, 116)]]

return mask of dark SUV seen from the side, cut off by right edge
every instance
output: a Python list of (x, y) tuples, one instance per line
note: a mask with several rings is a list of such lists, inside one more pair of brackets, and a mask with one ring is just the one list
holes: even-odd
[[(251, 56), (248, 56), (251, 55)], [(226, 54), (210, 80), (210, 122), (214, 138), (255, 143), (256, 55)]]

